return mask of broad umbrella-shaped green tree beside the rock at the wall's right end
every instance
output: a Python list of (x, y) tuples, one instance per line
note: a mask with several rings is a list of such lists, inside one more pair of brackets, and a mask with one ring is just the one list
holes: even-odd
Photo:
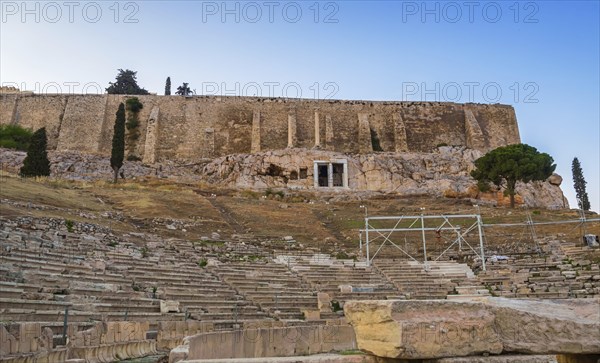
[(554, 159), (540, 153), (533, 146), (515, 144), (494, 149), (475, 160), (476, 169), (471, 176), (478, 181), (480, 189), (493, 183), (504, 187), (510, 196), (510, 206), (515, 206), (515, 187), (517, 181), (528, 183), (535, 180), (545, 180), (556, 169)]

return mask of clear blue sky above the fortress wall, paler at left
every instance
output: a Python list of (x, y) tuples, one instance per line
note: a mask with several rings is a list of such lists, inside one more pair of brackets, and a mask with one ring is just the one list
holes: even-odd
[(511, 104), (523, 142), (555, 158), (571, 206), (577, 156), (600, 209), (598, 1), (1, 7), (2, 84), (96, 92), (129, 68), (159, 94), (170, 76), (198, 93)]

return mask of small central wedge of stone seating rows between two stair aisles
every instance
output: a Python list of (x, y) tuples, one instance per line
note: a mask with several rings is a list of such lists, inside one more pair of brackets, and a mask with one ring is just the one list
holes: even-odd
[(314, 290), (283, 265), (268, 261), (227, 263), (215, 268), (215, 272), (278, 319), (304, 319), (303, 310), (317, 309)]

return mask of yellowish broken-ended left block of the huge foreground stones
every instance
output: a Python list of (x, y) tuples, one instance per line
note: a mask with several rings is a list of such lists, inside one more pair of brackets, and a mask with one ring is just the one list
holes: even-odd
[(482, 304), (444, 301), (348, 301), (358, 347), (386, 358), (499, 354), (494, 316)]

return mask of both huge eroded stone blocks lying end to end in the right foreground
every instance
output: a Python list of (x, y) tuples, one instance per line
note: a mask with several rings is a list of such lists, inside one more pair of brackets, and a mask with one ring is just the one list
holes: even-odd
[(597, 299), (349, 301), (358, 347), (386, 358), (600, 353)]

